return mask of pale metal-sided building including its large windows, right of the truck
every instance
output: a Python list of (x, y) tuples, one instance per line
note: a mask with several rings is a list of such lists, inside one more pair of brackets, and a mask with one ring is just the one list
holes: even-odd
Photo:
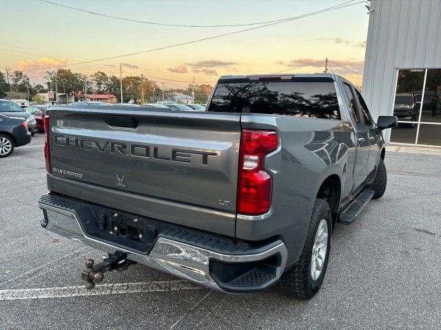
[(388, 141), (441, 146), (440, 0), (371, 0), (362, 94)]

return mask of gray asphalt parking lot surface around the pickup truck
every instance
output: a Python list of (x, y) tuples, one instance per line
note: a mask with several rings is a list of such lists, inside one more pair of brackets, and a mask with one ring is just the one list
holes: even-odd
[(278, 286), (222, 294), (142, 265), (86, 292), (84, 261), (102, 253), (39, 224), (43, 140), (0, 159), (0, 329), (440, 329), (441, 155), (387, 152), (384, 197), (336, 226), (322, 289), (298, 301)]

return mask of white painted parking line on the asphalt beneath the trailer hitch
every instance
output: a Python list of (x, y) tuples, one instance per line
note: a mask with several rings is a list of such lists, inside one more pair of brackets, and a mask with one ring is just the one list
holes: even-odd
[(0, 290), (0, 300), (28, 300), (46, 298), (68, 298), (79, 296), (101, 296), (105, 294), (135, 294), (139, 292), (167, 292), (203, 289), (187, 281), (157, 281), (141, 283), (114, 283), (96, 285), (88, 290), (84, 285), (75, 287), (41, 287), (37, 289)]

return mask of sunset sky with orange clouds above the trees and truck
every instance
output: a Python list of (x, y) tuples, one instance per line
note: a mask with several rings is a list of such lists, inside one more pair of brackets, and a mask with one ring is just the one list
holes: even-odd
[[(350, 6), (262, 28), (184, 28), (112, 19), (41, 0), (0, 0), (2, 25), (8, 27), (0, 34), (1, 72), (5, 67), (21, 69), (31, 83), (42, 83), (45, 72), (57, 70), (55, 66), (119, 76), (121, 63), (123, 76), (143, 74), (176, 88), (193, 78), (196, 84), (214, 85), (222, 75), (323, 72), (329, 58), (330, 72), (362, 83), (369, 15), (359, 0), (50, 1), (123, 19), (177, 25), (267, 22), (342, 3)], [(145, 52), (249, 28), (256, 29)], [(124, 56), (135, 52), (143, 53)], [(114, 56), (123, 57), (74, 64)]]

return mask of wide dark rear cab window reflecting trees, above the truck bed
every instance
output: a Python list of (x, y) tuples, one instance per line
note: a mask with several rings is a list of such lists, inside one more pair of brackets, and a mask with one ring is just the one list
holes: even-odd
[(340, 120), (333, 82), (221, 82), (208, 111)]

